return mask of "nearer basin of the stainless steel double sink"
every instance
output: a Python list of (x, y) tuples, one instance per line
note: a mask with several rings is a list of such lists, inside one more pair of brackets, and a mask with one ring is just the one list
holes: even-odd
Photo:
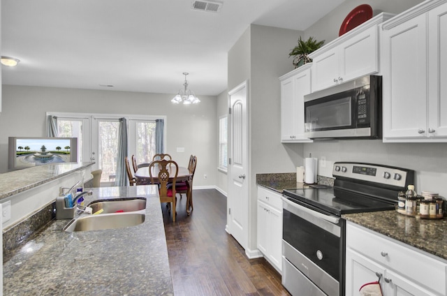
[(81, 216), (73, 219), (65, 227), (65, 231), (88, 231), (124, 228), (135, 226), (145, 221), (145, 214), (141, 212), (128, 212), (117, 214), (98, 214)]

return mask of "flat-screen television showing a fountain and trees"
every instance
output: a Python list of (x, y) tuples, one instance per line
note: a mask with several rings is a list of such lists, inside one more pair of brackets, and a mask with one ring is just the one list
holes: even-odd
[(9, 137), (8, 168), (78, 162), (78, 138)]

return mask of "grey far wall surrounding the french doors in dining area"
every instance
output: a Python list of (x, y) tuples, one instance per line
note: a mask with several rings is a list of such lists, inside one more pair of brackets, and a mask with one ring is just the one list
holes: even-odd
[[(217, 98), (199, 96), (198, 105), (173, 105), (174, 94), (144, 94), (50, 87), (3, 85), (0, 113), (0, 172), (8, 170), (9, 136), (45, 136), (45, 112), (166, 115), (166, 152), (179, 165), (198, 158), (194, 187), (214, 187), (217, 180)], [(176, 151), (184, 147), (183, 153)], [(203, 178), (207, 175), (207, 179)]]

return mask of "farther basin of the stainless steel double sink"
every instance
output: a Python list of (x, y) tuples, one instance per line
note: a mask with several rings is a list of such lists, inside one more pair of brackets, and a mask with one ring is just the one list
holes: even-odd
[(95, 200), (90, 202), (92, 213), (103, 210), (101, 213), (135, 212), (146, 209), (145, 198), (126, 198), (116, 200)]

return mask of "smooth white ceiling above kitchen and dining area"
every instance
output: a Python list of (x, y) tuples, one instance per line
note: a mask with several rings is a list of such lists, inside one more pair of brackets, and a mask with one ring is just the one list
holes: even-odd
[[(2, 0), (3, 84), (196, 95), (226, 89), (227, 52), (249, 24), (305, 30), (344, 0)], [(297, 36), (298, 37), (298, 36)], [(111, 84), (113, 87), (101, 87)]]

